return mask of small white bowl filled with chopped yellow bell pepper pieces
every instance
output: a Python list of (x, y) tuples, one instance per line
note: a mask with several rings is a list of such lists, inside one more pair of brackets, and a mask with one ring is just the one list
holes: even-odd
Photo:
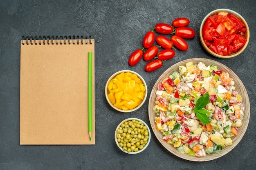
[(105, 95), (112, 108), (121, 112), (132, 112), (145, 102), (148, 89), (144, 79), (131, 70), (121, 70), (108, 79)]

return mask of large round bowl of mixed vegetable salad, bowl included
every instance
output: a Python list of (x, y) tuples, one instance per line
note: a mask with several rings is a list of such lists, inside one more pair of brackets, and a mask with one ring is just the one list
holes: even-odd
[(166, 70), (149, 98), (150, 125), (171, 153), (210, 161), (232, 150), (249, 123), (247, 91), (238, 76), (210, 59), (187, 59)]

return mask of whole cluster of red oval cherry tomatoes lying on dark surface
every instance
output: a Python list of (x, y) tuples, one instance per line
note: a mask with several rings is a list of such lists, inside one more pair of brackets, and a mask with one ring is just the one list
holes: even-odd
[[(129, 65), (136, 65), (143, 57), (144, 61), (149, 61), (145, 66), (145, 71), (152, 72), (162, 67), (164, 61), (175, 56), (175, 48), (186, 51), (188, 44), (184, 39), (195, 37), (195, 31), (187, 27), (189, 23), (189, 19), (181, 17), (173, 20), (172, 25), (165, 23), (156, 24), (144, 36), (144, 48), (137, 49), (130, 55)], [(160, 35), (156, 36), (155, 32)], [(171, 35), (171, 37), (166, 35)], [(154, 45), (155, 42), (156, 45)]]

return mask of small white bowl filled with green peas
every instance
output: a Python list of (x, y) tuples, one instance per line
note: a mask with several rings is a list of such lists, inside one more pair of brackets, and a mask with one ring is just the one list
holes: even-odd
[(145, 150), (150, 142), (148, 125), (138, 118), (128, 118), (117, 126), (115, 142), (120, 150), (128, 154), (137, 154)]

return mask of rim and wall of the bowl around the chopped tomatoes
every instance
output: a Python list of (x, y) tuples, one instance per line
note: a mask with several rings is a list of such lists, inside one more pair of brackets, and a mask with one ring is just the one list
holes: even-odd
[[(218, 12), (222, 12), (222, 11), (227, 11), (228, 13), (232, 13), (232, 14), (236, 15), (236, 17), (238, 17), (238, 18), (240, 19), (240, 21), (242, 21), (243, 24), (245, 24), (245, 28), (246, 28), (246, 30), (247, 30), (247, 31), (245, 32), (245, 38), (247, 39), (247, 42), (245, 43), (245, 45), (244, 45), (242, 48), (240, 48), (237, 52), (234, 52), (234, 53), (232, 53), (232, 54), (230, 54), (230, 55), (226, 55), (226, 56), (217, 54), (217, 53), (213, 52), (212, 50), (210, 50), (209, 47), (205, 44), (204, 39), (203, 39), (203, 37), (202, 37), (202, 28), (203, 28), (204, 23), (206, 22), (207, 18), (208, 18), (209, 16), (211, 16), (211, 15), (214, 15), (214, 14), (216, 14), (216, 13), (218, 13)], [(210, 13), (208, 13), (208, 14), (204, 17), (204, 19), (202, 20), (202, 23), (201, 23), (201, 26), (200, 26), (200, 33), (199, 33), (199, 36), (200, 36), (200, 41), (201, 41), (201, 43), (202, 43), (202, 46), (204, 47), (205, 50), (207, 50), (207, 52), (209, 52), (211, 55), (213, 55), (213, 56), (215, 56), (215, 57), (219, 57), (219, 58), (224, 58), (224, 59), (226, 59), (226, 58), (236, 57), (236, 56), (238, 56), (239, 54), (241, 54), (241, 53), (245, 50), (245, 48), (247, 47), (247, 45), (248, 45), (248, 43), (249, 43), (250, 31), (249, 31), (249, 26), (248, 26), (247, 22), (245, 21), (245, 19), (244, 19), (239, 13), (237, 13), (237, 12), (235, 12), (235, 11), (232, 11), (232, 10), (230, 10), (230, 9), (216, 9), (216, 10), (211, 11)]]

